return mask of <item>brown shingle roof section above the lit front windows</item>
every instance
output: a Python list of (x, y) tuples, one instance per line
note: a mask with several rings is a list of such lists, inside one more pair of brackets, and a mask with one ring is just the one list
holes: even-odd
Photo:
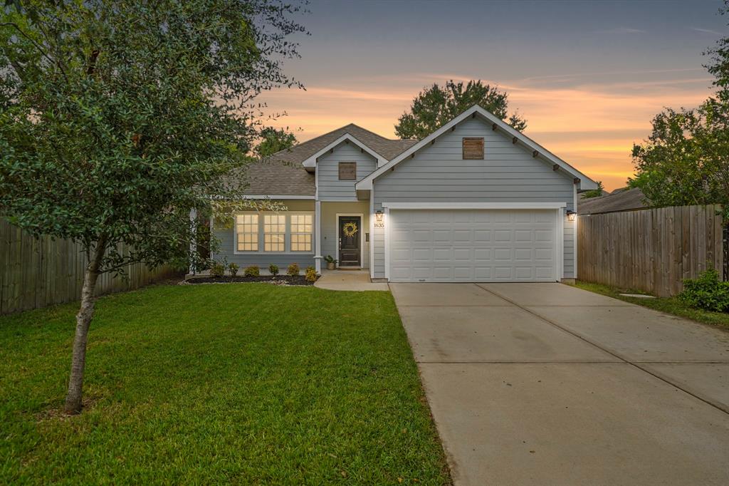
[(417, 140), (386, 139), (350, 123), (327, 134), (274, 153), (244, 169), (236, 169), (228, 174), (227, 180), (230, 184), (247, 183), (246, 194), (313, 196), (316, 193), (314, 174), (310, 174), (304, 169), (303, 161), (347, 133), (387, 160), (395, 158), (418, 142)]

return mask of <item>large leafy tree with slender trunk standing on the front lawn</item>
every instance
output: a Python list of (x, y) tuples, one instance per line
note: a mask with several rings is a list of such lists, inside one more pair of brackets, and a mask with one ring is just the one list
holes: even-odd
[[(87, 255), (65, 409), (82, 408), (99, 274), (198, 258), (193, 210), (257, 138), (253, 99), (303, 31), (275, 0), (8, 1), (0, 10), (0, 214)], [(117, 251), (118, 244), (131, 247)]]

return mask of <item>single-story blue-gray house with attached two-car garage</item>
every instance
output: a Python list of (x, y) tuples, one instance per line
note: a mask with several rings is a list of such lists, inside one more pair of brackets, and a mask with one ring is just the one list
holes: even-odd
[(419, 141), (344, 126), (231, 177), (288, 210), (216, 226), (214, 258), (321, 271), (332, 255), (390, 282), (574, 279), (577, 191), (597, 187), (479, 106)]

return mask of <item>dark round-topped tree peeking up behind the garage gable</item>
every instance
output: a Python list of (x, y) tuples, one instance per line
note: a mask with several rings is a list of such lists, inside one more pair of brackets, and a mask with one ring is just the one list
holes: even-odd
[(444, 86), (433, 83), (430, 88), (418, 93), (410, 105), (410, 112), (403, 113), (397, 120), (395, 133), (402, 139), (422, 139), (475, 104), (518, 131), (526, 128), (526, 120), (517, 112), (509, 115), (509, 96), (506, 91), (484, 84), (481, 80), (469, 81), (465, 85), (449, 80)]

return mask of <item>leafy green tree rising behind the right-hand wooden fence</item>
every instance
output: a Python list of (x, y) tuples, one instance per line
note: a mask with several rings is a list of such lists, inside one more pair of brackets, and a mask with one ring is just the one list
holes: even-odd
[[(728, 12), (725, 0), (722, 14)], [(707, 51), (715, 96), (696, 109), (666, 109), (652, 120), (652, 133), (633, 147), (631, 187), (651, 204), (723, 204), (729, 217), (729, 37)]]

